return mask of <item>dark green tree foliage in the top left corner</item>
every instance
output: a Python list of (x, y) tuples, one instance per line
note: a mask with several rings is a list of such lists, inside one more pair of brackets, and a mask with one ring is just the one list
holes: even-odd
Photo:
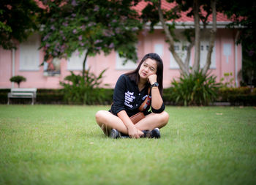
[(6, 50), (15, 48), (39, 28), (37, 15), (41, 10), (34, 0), (2, 0), (0, 3), (0, 45)]

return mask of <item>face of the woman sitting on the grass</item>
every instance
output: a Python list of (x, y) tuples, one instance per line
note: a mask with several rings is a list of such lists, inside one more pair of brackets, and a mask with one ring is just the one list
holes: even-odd
[(139, 75), (140, 78), (148, 79), (150, 75), (157, 73), (157, 61), (147, 58), (140, 66)]

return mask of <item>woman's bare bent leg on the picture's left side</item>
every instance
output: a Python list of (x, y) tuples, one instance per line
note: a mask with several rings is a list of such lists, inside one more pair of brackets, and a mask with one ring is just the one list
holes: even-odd
[(119, 132), (128, 134), (127, 127), (118, 116), (113, 115), (109, 111), (99, 110), (95, 115), (97, 124), (103, 130), (105, 135), (109, 135), (111, 129), (117, 129)]

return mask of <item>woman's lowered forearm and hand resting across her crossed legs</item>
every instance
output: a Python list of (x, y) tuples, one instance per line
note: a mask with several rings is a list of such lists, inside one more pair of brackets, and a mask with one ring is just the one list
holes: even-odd
[(121, 121), (125, 124), (125, 126), (128, 129), (128, 135), (132, 138), (140, 138), (141, 135), (143, 135), (143, 132), (141, 132), (139, 129), (136, 129), (135, 125), (132, 124), (131, 119), (127, 115), (127, 112), (125, 110), (121, 110), (117, 113), (118, 118), (121, 118)]

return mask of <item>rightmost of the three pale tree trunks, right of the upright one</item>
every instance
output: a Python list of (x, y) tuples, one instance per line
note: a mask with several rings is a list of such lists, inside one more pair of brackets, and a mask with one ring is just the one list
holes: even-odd
[(212, 9), (212, 29), (211, 29), (211, 36), (210, 36), (210, 42), (209, 42), (209, 49), (208, 49), (207, 58), (206, 58), (206, 65), (203, 67), (204, 75), (206, 75), (211, 65), (211, 53), (214, 48), (214, 41), (217, 33), (216, 0), (211, 0), (211, 9)]

